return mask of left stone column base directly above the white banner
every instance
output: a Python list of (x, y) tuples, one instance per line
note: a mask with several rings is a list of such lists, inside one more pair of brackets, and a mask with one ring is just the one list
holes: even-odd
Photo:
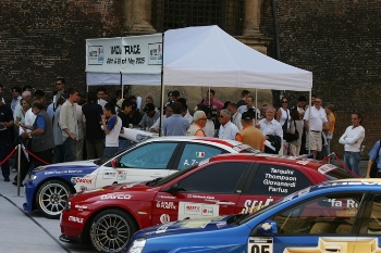
[(125, 0), (126, 34), (144, 35), (157, 33), (151, 25), (151, 0)]

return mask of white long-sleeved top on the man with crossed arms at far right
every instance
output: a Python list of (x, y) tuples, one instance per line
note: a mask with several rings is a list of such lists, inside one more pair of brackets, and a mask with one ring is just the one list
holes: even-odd
[(344, 150), (349, 152), (360, 152), (361, 143), (365, 138), (365, 129), (362, 126), (348, 126), (339, 142), (344, 144)]

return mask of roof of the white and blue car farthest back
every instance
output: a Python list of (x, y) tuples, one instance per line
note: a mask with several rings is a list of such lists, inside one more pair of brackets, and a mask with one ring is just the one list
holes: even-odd
[(219, 139), (219, 138), (211, 138), (211, 137), (197, 137), (197, 136), (164, 136), (164, 137), (155, 137), (147, 139), (146, 142), (153, 142), (153, 141), (193, 141), (193, 142), (204, 142), (204, 143), (212, 143), (212, 144), (222, 144), (230, 148), (233, 148), (235, 146), (242, 146), (243, 143), (236, 140), (226, 140), (226, 139)]

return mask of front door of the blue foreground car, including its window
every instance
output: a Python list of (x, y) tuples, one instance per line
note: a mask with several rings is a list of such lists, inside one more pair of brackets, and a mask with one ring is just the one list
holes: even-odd
[(325, 193), (282, 210), (267, 219), (278, 225), (273, 237), (257, 233), (258, 227), (253, 230), (249, 252), (265, 252), (261, 249), (274, 253), (367, 252), (355, 251), (358, 217), (365, 210), (361, 206), (364, 194)]

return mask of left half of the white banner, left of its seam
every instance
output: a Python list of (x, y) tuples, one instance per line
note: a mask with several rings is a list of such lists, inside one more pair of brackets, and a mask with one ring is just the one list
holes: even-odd
[(86, 39), (86, 72), (120, 73), (122, 39)]

